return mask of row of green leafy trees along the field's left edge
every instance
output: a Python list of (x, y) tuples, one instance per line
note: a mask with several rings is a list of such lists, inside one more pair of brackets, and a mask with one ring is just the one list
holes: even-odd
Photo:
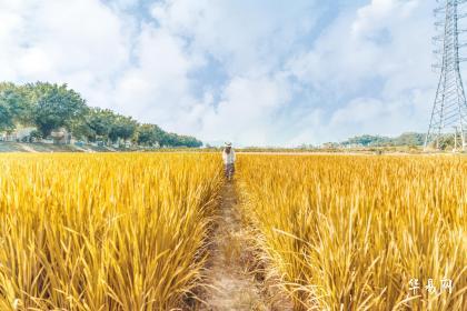
[(92, 108), (67, 84), (36, 82), (18, 86), (0, 83), (0, 132), (18, 127), (34, 127), (36, 139), (48, 138), (64, 128), (79, 140), (116, 143), (120, 140), (139, 146), (201, 147), (193, 137), (163, 131), (156, 124), (140, 124), (131, 117), (109, 109)]

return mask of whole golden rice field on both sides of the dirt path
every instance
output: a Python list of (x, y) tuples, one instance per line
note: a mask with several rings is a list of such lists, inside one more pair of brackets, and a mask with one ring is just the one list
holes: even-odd
[[(467, 158), (238, 158), (242, 219), (295, 310), (467, 310)], [(0, 310), (188, 308), (220, 163), (0, 156)]]

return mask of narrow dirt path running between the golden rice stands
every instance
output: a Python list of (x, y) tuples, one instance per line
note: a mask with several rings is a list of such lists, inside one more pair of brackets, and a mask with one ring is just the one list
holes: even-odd
[(199, 310), (268, 310), (261, 301), (255, 277), (248, 272), (250, 254), (236, 208), (234, 183), (223, 185), (221, 200), (207, 270), (207, 303)]

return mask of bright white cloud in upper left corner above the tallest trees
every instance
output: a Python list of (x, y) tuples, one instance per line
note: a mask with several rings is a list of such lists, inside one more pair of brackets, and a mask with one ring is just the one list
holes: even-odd
[(97, 0), (1, 1), (0, 80), (68, 83), (112, 107), (113, 77), (129, 64), (130, 26)]

